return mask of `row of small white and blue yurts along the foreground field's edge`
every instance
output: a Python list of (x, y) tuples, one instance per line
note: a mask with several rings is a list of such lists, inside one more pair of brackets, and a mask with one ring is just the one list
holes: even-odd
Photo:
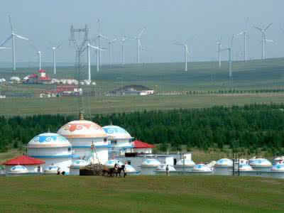
[[(35, 158), (23, 155), (21, 160), (26, 160), (25, 165), (11, 165), (6, 164), (8, 175), (28, 175), (33, 173), (40, 173), (37, 165), (44, 162)], [(15, 160), (14, 160), (15, 161)], [(13, 163), (12, 163), (13, 164)], [(80, 168), (88, 165), (87, 160), (73, 160), (70, 166), (70, 175), (80, 175)], [(114, 168), (114, 165), (124, 165), (119, 160), (107, 160), (104, 165), (108, 168)], [(170, 175), (232, 175), (233, 174), (233, 160), (222, 158), (217, 161), (212, 161), (209, 164), (195, 164), (193, 160), (181, 159), (175, 165), (166, 165), (160, 163), (155, 158), (147, 158), (141, 164), (139, 170), (133, 168), (132, 165), (125, 165), (126, 173), (128, 175), (166, 175), (167, 167)], [(273, 159), (273, 163), (264, 158), (253, 158), (250, 160), (240, 159), (235, 162), (235, 171), (241, 176), (260, 176), (266, 178), (284, 178), (284, 157)], [(45, 167), (44, 173), (55, 174), (58, 172), (57, 165), (48, 165)]]

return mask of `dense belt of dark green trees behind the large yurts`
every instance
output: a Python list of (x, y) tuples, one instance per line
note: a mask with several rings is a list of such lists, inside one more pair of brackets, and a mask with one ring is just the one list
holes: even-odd
[[(175, 148), (272, 148), (284, 146), (284, 104), (251, 104), (244, 107), (136, 111), (96, 114), (92, 121), (121, 126), (131, 136), (148, 143)], [(75, 116), (37, 115), (0, 117), (0, 150), (17, 148), (38, 133), (56, 132)]]

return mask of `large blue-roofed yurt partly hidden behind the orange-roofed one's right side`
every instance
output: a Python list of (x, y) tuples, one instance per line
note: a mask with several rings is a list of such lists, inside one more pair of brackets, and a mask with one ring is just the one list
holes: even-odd
[(132, 137), (120, 126), (103, 126), (105, 133), (107, 133), (109, 139), (109, 156), (124, 155), (127, 152), (131, 152)]

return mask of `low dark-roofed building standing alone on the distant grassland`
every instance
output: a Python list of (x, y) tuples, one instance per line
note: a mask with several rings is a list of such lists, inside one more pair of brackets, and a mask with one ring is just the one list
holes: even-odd
[(111, 94), (133, 94), (133, 95), (148, 95), (148, 94), (154, 94), (155, 91), (153, 89), (150, 89), (148, 87), (145, 87), (143, 85), (126, 85), (124, 87), (121, 87), (119, 89), (114, 89), (111, 91)]

